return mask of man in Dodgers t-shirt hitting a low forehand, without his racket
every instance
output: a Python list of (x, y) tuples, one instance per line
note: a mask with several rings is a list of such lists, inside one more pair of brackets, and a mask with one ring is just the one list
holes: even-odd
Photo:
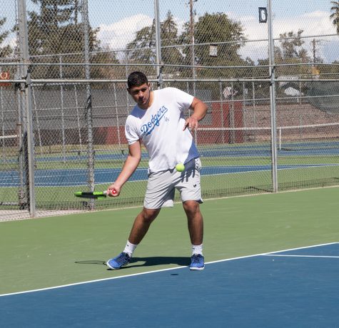
[[(149, 155), (148, 185), (143, 209), (133, 223), (125, 249), (106, 264), (116, 270), (131, 261), (133, 251), (146, 235), (161, 207), (173, 206), (177, 189), (186, 212), (192, 244), (190, 269), (203, 270), (203, 216), (199, 207), (203, 203), (201, 161), (191, 132), (198, 128), (198, 121), (205, 117), (207, 106), (177, 88), (151, 91), (146, 75), (138, 71), (128, 76), (127, 84), (128, 93), (136, 102), (125, 126), (128, 156), (118, 178), (108, 187), (107, 194), (111, 197), (118, 196), (123, 184), (138, 167), (141, 140)], [(183, 111), (188, 108), (193, 113), (185, 119)], [(182, 172), (176, 170), (178, 163), (185, 165)]]

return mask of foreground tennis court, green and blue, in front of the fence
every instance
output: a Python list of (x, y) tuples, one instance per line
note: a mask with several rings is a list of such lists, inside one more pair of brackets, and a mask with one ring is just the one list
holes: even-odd
[[(1, 222), (4, 327), (335, 327), (338, 187), (207, 200), (202, 272), (180, 204), (118, 271), (139, 208)], [(79, 229), (81, 227), (81, 229)]]

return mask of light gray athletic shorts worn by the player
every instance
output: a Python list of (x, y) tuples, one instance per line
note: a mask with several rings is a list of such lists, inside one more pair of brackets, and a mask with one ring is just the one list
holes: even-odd
[(203, 203), (200, 185), (200, 158), (193, 158), (185, 164), (185, 170), (178, 172), (166, 170), (148, 175), (148, 184), (143, 206), (148, 209), (172, 207), (175, 190), (178, 190), (181, 201), (196, 200)]

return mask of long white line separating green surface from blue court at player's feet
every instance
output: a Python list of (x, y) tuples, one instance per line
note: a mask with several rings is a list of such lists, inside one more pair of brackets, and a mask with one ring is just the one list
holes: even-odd
[[(335, 244), (339, 244), (339, 242), (328, 242), (326, 244), (319, 244), (319, 245), (312, 245), (312, 246), (305, 246), (305, 247), (289, 248), (288, 250), (275, 250), (274, 252), (259, 253), (259, 254), (246, 255), (246, 256), (240, 256), (240, 257), (231, 257), (231, 258), (225, 259), (225, 260), (206, 262), (205, 265), (210, 265), (210, 264), (218, 263), (218, 262), (241, 260), (241, 259), (246, 259), (246, 258), (249, 258), (249, 257), (271, 255), (271, 254), (276, 253), (276, 252), (288, 252), (289, 250), (304, 250), (306, 248), (328, 246), (328, 245), (335, 245)], [(40, 289), (31, 289), (31, 290), (26, 290), (24, 292), (12, 292), (12, 293), (9, 293), (9, 294), (0, 294), (0, 297), (17, 295), (17, 294), (26, 294), (26, 293), (31, 293), (31, 292), (41, 292), (41, 291), (44, 291), (44, 290), (58, 289), (58, 288), (64, 288), (64, 287), (71, 287), (71, 286), (76, 286), (76, 285), (85, 285), (85, 284), (89, 284), (89, 283), (92, 283), (92, 282), (103, 282), (103, 281), (106, 281), (106, 280), (116, 280), (116, 279), (121, 279), (121, 278), (135, 277), (135, 276), (139, 276), (139, 275), (148, 275), (149, 273), (165, 272), (165, 271), (178, 270), (178, 269), (183, 269), (183, 268), (187, 268), (187, 266), (171, 267), (169, 269), (140, 272), (140, 273), (134, 273), (133, 275), (124, 275), (124, 276), (119, 276), (119, 277), (110, 277), (110, 278), (103, 278), (103, 279), (97, 279), (97, 280), (88, 280), (86, 282), (75, 282), (74, 284), (68, 284), (68, 285), (59, 285), (59, 286), (54, 286), (54, 287), (46, 287), (46, 288), (40, 288)]]

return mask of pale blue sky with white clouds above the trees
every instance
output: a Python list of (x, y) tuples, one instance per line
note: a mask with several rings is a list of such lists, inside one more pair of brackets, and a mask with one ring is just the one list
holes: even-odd
[[(14, 21), (16, 0), (0, 0), (0, 18), (8, 17)], [(171, 11), (179, 30), (190, 19), (189, 0), (158, 0), (161, 20)], [(267, 6), (268, 0), (196, 0), (193, 9), (196, 19), (206, 12), (222, 12), (232, 20), (240, 21), (248, 40), (268, 39), (267, 24), (258, 23), (258, 7)], [(136, 35), (136, 31), (150, 26), (153, 21), (154, 0), (88, 0), (89, 20), (92, 27), (100, 27), (98, 34), (101, 43), (111, 48), (124, 48)], [(295, 33), (302, 29), (303, 47), (312, 53), (311, 41), (317, 42), (316, 55), (325, 62), (339, 61), (339, 36), (330, 21), (330, 0), (272, 0), (273, 36), (288, 31)], [(27, 0), (27, 9), (33, 10), (34, 4)], [(335, 36), (328, 36), (335, 34)], [(315, 36), (313, 38), (313, 36)], [(13, 42), (9, 39), (7, 42)], [(241, 56), (253, 60), (267, 58), (267, 42), (249, 42), (241, 48)]]

